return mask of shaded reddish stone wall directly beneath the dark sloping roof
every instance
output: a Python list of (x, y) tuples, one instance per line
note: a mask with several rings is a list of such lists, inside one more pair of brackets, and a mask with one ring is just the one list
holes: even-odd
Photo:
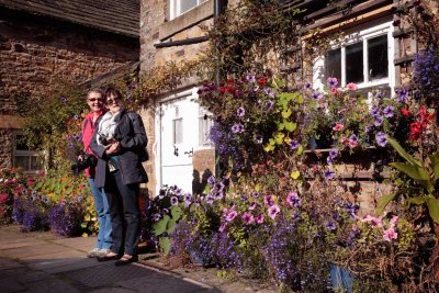
[(57, 80), (83, 82), (136, 59), (135, 38), (0, 12), (0, 95), (44, 97)]

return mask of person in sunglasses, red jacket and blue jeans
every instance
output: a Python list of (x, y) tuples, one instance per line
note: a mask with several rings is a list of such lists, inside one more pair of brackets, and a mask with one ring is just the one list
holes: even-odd
[(81, 125), (83, 153), (93, 157), (93, 166), (87, 168), (85, 172), (90, 184), (91, 194), (94, 199), (99, 223), (98, 241), (95, 247), (87, 253), (89, 258), (105, 256), (110, 252), (110, 248), (113, 245), (109, 202), (103, 189), (98, 189), (94, 185), (97, 158), (90, 148), (90, 142), (98, 125), (97, 122), (99, 117), (105, 113), (103, 97), (104, 93), (100, 89), (93, 89), (88, 92), (87, 104), (90, 108), (90, 112), (87, 114)]

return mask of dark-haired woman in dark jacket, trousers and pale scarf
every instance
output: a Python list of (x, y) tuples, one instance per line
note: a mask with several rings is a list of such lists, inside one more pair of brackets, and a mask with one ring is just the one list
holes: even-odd
[(119, 259), (115, 264), (122, 266), (138, 260), (138, 193), (139, 183), (147, 182), (142, 166), (147, 137), (140, 116), (123, 109), (119, 90), (106, 89), (105, 105), (109, 112), (100, 119), (90, 146), (98, 157), (95, 187), (103, 187), (109, 200), (114, 245), (98, 260)]

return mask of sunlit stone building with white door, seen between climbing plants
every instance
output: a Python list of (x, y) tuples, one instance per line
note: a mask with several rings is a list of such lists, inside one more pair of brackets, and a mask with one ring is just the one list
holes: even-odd
[[(398, 11), (403, 5), (413, 9), (414, 1), (281, 2), (285, 9), (305, 11), (300, 23), (292, 26), (299, 32), (296, 46), (281, 52), (285, 76), (313, 80), (314, 87), (320, 87), (330, 74), (338, 77), (341, 86), (354, 81), (365, 93), (374, 89), (394, 93), (408, 80), (419, 44), (410, 36), (409, 27), (399, 24)], [(437, 5), (435, 1), (427, 2)], [(233, 4), (239, 4), (239, 0), (142, 0), (142, 71), (148, 72), (167, 60), (196, 58), (209, 44), (201, 27), (212, 24), (215, 13)], [(315, 30), (323, 35), (344, 32), (347, 41), (333, 43), (324, 56), (309, 64), (304, 47)], [(155, 111), (144, 115), (149, 122), (147, 131), (153, 156), (148, 170), (153, 192), (164, 184), (198, 191), (203, 174), (214, 173), (214, 148), (206, 139), (211, 122), (202, 119), (205, 111), (192, 102), (196, 99), (198, 82), (190, 79), (173, 91), (162, 92), (155, 101)], [(371, 209), (375, 198), (384, 192), (384, 187), (376, 185), (373, 180), (375, 166), (372, 162), (369, 169), (352, 170), (353, 165), (344, 170), (347, 184), (359, 189), (364, 194), (362, 198), (368, 199), (363, 207)]]

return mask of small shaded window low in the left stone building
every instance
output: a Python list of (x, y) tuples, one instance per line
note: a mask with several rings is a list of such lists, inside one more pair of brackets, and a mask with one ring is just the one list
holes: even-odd
[(20, 133), (14, 134), (13, 166), (22, 168), (25, 173), (36, 173), (42, 169), (38, 153), (29, 148)]

